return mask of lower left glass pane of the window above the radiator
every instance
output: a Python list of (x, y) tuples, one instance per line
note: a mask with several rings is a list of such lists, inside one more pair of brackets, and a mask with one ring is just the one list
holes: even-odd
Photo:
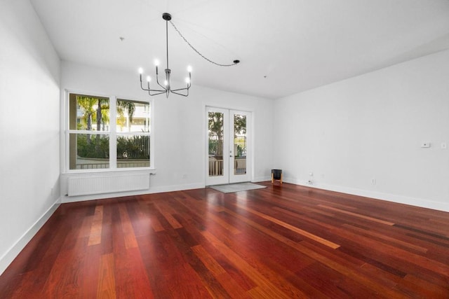
[(69, 134), (69, 168), (109, 168), (109, 135)]

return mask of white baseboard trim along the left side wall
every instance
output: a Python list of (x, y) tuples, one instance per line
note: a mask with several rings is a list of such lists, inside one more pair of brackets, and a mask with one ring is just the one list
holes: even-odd
[(60, 206), (61, 198), (58, 198), (50, 208), (39, 218), (23, 235), (18, 239), (13, 246), (11, 246), (6, 253), (0, 257), (0, 275), (6, 270), (6, 268), (11, 265), (13, 260), (19, 255), (20, 251), (27, 246), (28, 242), (36, 235), (43, 224), (45, 224), (48, 219), (53, 215), (53, 213)]

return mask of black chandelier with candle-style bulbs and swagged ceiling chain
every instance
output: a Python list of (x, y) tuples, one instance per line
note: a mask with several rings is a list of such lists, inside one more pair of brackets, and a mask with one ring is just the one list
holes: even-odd
[(187, 83), (187, 86), (185, 88), (177, 88), (177, 89), (171, 88), (171, 85), (170, 85), (171, 70), (170, 70), (170, 67), (168, 67), (168, 22), (170, 22), (170, 24), (173, 26), (173, 28), (175, 28), (176, 32), (182, 37), (182, 39), (184, 39), (184, 41), (187, 43), (187, 45), (189, 45), (190, 48), (192, 48), (198, 55), (203, 57), (208, 62), (213, 63), (219, 67), (232, 67), (233, 65), (239, 64), (240, 60), (234, 60), (234, 62), (232, 64), (218, 64), (216, 62), (213, 62), (212, 60), (209, 60), (204, 55), (199, 53), (199, 51), (196, 50), (187, 41), (187, 39), (185, 39), (185, 37), (176, 28), (176, 26), (173, 24), (173, 22), (171, 22), (170, 13), (163, 13), (162, 18), (163, 18), (163, 20), (166, 21), (166, 54), (167, 54), (167, 64), (166, 64), (166, 69), (164, 70), (166, 76), (165, 76), (165, 79), (163, 80), (162, 84), (159, 83), (159, 60), (155, 60), (155, 62), (154, 62), (154, 64), (156, 64), (156, 83), (157, 83), (157, 85), (159, 85), (159, 87), (161, 89), (152, 89), (149, 87), (149, 83), (151, 81), (150, 76), (147, 76), (147, 87), (144, 87), (144, 85), (142, 83), (143, 69), (139, 68), (140, 88), (142, 88), (142, 90), (147, 91), (150, 96), (166, 94), (166, 97), (168, 97), (168, 95), (170, 95), (170, 92), (171, 92), (171, 93), (174, 93), (175, 95), (182, 95), (184, 97), (187, 97), (189, 95), (189, 89), (192, 86), (192, 82), (191, 82), (192, 81), (192, 67), (189, 66), (189, 67), (187, 67), (187, 72), (189, 73), (189, 76), (187, 78), (185, 78), (185, 83)]

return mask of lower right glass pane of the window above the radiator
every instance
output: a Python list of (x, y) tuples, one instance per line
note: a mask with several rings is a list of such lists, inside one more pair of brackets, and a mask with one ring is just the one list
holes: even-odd
[(149, 135), (117, 134), (117, 167), (149, 167)]

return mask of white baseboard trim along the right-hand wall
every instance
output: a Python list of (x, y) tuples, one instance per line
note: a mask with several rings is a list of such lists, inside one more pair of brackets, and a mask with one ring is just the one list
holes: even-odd
[(321, 184), (321, 183), (318, 183), (318, 184), (314, 183), (312, 185), (309, 185), (309, 183), (307, 181), (300, 181), (300, 180), (285, 178), (285, 177), (284, 177), (283, 181), (285, 181), (286, 183), (293, 183), (295, 185), (307, 186), (310, 188), (317, 188), (317, 189), (335, 191), (335, 192), (340, 192), (340, 193), (347, 193), (347, 194), (358, 195), (358, 196), (363, 196), (363, 197), (370, 197), (370, 198), (374, 198), (376, 200), (385, 200), (387, 202), (396, 202), (398, 204), (408, 204), (408, 205), (412, 205), (415, 207), (435, 209), (438, 211), (449, 211), (449, 202), (448, 203), (435, 202), (432, 200), (425, 200), (423, 198), (408, 197), (408, 196), (403, 196), (403, 195), (376, 192), (376, 191), (372, 191), (372, 190), (362, 190), (362, 189), (357, 189), (357, 188), (334, 186), (334, 185)]

